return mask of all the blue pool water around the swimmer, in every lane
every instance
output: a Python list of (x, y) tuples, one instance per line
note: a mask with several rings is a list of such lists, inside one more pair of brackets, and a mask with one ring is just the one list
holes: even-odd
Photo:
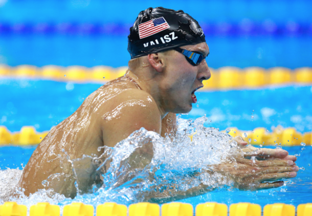
[[(123, 0), (0, 0), (0, 64), (13, 67), (20, 64), (37, 67), (48, 64), (64, 67), (126, 66), (130, 58), (127, 52), (129, 27), (141, 10), (158, 6), (182, 9), (198, 20), (210, 47), (207, 62), (211, 68), (312, 67), (312, 2), (309, 0), (200, 0), (196, 4), (186, 0), (145, 1), (140, 4)], [(0, 125), (5, 125), (11, 132), (17, 132), (25, 125), (34, 126), (38, 132), (49, 131), (70, 116), (100, 86), (99, 83), (0, 77)], [(196, 96), (198, 107), (194, 105), (193, 110), (181, 118), (196, 119), (206, 115), (206, 127), (220, 130), (233, 126), (242, 130), (265, 127), (272, 131), (281, 125), (295, 127), (301, 133), (312, 131), (310, 85), (202, 91)], [(0, 147), (0, 197), (8, 189), (7, 185), (18, 178), (19, 170), (26, 165), (35, 148)], [(285, 186), (261, 191), (218, 188), (182, 202), (191, 203), (194, 207), (211, 201), (228, 205), (251, 202), (262, 207), (270, 203), (295, 206), (311, 203), (312, 147), (283, 148), (298, 156), (297, 165), (300, 167), (298, 176), (286, 181)], [(28, 207), (42, 201), (63, 206), (71, 202), (94, 204), (108, 201), (103, 197), (105, 195), (99, 192), (80, 195), (74, 200), (51, 199), (39, 194), (18, 202)], [(129, 204), (126, 201), (119, 203), (123, 202)]]

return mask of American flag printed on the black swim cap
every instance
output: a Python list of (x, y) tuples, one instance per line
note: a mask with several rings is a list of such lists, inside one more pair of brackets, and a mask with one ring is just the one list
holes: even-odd
[(142, 39), (169, 28), (170, 26), (164, 17), (152, 19), (139, 25), (139, 36)]

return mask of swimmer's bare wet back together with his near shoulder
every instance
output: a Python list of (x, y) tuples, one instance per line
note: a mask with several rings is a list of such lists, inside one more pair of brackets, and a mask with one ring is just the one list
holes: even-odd
[(70, 117), (51, 129), (24, 168), (20, 186), (29, 195), (44, 188), (42, 181), (49, 178), (44, 184), (46, 189), (53, 188), (66, 197), (75, 197), (75, 181), (82, 190), (83, 185), (92, 185), (95, 181), (91, 178), (95, 168), (86, 165), (91, 159), (75, 159), (83, 155), (99, 157), (102, 152), (98, 147), (114, 147), (141, 127), (160, 133), (161, 117), (153, 98), (125, 77), (108, 82), (88, 96)]

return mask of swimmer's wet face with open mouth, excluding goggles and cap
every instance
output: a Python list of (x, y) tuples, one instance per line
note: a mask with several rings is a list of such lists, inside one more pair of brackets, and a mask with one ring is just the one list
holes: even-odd
[[(209, 47), (206, 42), (198, 45), (181, 47), (207, 56)], [(203, 80), (209, 79), (211, 74), (206, 62), (202, 60), (197, 66), (190, 64), (182, 53), (177, 51), (164, 58), (166, 77), (162, 86), (164, 106), (167, 112), (188, 113), (197, 99), (196, 90), (203, 87)]]

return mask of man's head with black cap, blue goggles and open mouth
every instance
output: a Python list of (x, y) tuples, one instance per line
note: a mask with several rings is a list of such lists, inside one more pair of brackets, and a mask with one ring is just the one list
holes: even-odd
[(129, 70), (153, 86), (150, 93), (165, 112), (192, 109), (194, 92), (210, 77), (209, 48), (196, 20), (183, 11), (146, 9), (130, 28), (128, 51)]

